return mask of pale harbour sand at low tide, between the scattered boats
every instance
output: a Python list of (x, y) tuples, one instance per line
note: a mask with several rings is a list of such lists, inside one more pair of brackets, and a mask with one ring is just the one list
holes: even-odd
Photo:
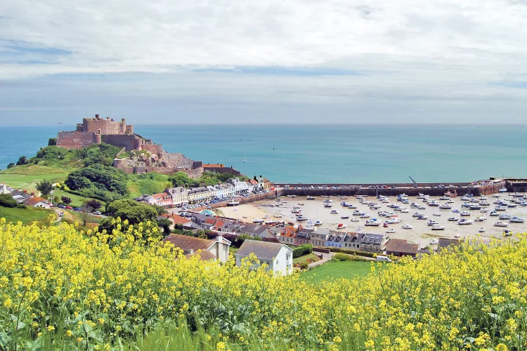
[[(509, 196), (507, 194), (503, 194), (500, 199), (507, 199)], [(369, 206), (365, 204), (360, 204), (358, 199), (355, 199), (353, 197), (348, 197), (348, 199), (338, 199), (337, 197), (327, 198), (332, 200), (332, 208), (325, 208), (323, 205), (323, 200), (325, 198), (322, 197), (315, 197), (314, 200), (306, 200), (305, 197), (282, 197), (280, 201), (275, 200), (266, 200), (266, 201), (258, 201), (254, 202), (252, 204), (245, 204), (235, 207), (226, 207), (226, 208), (219, 208), (219, 210), (222, 212), (222, 214), (226, 217), (230, 218), (238, 218), (240, 220), (244, 220), (246, 222), (252, 222), (255, 218), (260, 218), (263, 220), (268, 219), (276, 219), (276, 220), (282, 220), (287, 222), (292, 222), (295, 224), (301, 224), (308, 225), (308, 222), (311, 221), (312, 223), (315, 223), (316, 220), (320, 220), (323, 222), (322, 225), (317, 226), (317, 228), (324, 228), (324, 229), (330, 229), (330, 230), (337, 230), (337, 225), (339, 223), (346, 224), (346, 228), (344, 230), (339, 230), (341, 232), (369, 232), (369, 233), (379, 233), (384, 234), (388, 228), (382, 227), (380, 225), (379, 227), (370, 227), (365, 226), (365, 220), (367, 218), (359, 218), (359, 216), (352, 216), (353, 211), (355, 209), (352, 208), (344, 208), (341, 206), (342, 201), (346, 201), (347, 203), (351, 203), (355, 206), (357, 206), (357, 210), (370, 214), (371, 218), (377, 218), (377, 220), (384, 223), (387, 218), (378, 216), (379, 211), (388, 211), (393, 212), (398, 215), (398, 218), (401, 220), (401, 223), (397, 224), (391, 224), (389, 225), (389, 228), (393, 228), (395, 230), (395, 233), (387, 234), (391, 238), (396, 239), (408, 239), (408, 241), (411, 241), (415, 244), (419, 244), (419, 246), (424, 247), (427, 246), (431, 239), (439, 238), (439, 237), (448, 237), (448, 238), (455, 238), (455, 235), (459, 234), (461, 238), (469, 238), (469, 237), (481, 237), (481, 239), (490, 239), (490, 237), (495, 238), (502, 238), (503, 230), (512, 230), (513, 232), (527, 232), (527, 223), (510, 223), (509, 227), (503, 228), (503, 227), (495, 227), (494, 223), (497, 222), (499, 219), (497, 217), (490, 217), (489, 214), (493, 209), (495, 208), (495, 204), (493, 204), (493, 201), (495, 201), (495, 198), (493, 198), (491, 195), (488, 196), (488, 201), (490, 202), (490, 206), (486, 206), (483, 208), (488, 208), (487, 213), (481, 213), (478, 210), (475, 211), (469, 211), (467, 208), (462, 208), (461, 205), (464, 202), (462, 201), (460, 197), (455, 197), (452, 200), (454, 201), (453, 204), (450, 204), (452, 206), (451, 210), (446, 209), (439, 209), (438, 207), (433, 206), (427, 206), (424, 202), (422, 202), (422, 199), (416, 199), (416, 197), (409, 197), (410, 203), (415, 202), (416, 204), (425, 206), (424, 209), (419, 210), (417, 208), (410, 208), (410, 204), (402, 204), (401, 202), (398, 202), (396, 200), (396, 197), (390, 197), (388, 198), (392, 204), (397, 204), (401, 207), (406, 207), (410, 211), (409, 213), (401, 213), (393, 211), (393, 208), (387, 207), (388, 204), (382, 204), (380, 201), (375, 199), (375, 197), (369, 197), (367, 198), (368, 201), (375, 202), (381, 206), (381, 208), (378, 209), (370, 209)], [(437, 200), (440, 204), (444, 204), (445, 201), (439, 200), (439, 197), (430, 197), (430, 199)], [(256, 206), (255, 206), (256, 205)], [(294, 213), (292, 213), (293, 206), (300, 206), (301, 207), (301, 213), (308, 218), (308, 221), (304, 222), (297, 222), (296, 216)], [(453, 213), (454, 209), (458, 209), (459, 211), (469, 211), (471, 212), (471, 216), (469, 217), (461, 217), (460, 213)], [(337, 210), (339, 211), (338, 214), (331, 214), (330, 211)], [(415, 212), (422, 213), (429, 217), (431, 220), (435, 220), (439, 225), (444, 226), (445, 230), (431, 230), (431, 227), (427, 225), (428, 220), (417, 220), (417, 218), (412, 217), (412, 215)], [(441, 216), (434, 216), (434, 213), (440, 213)], [(527, 214), (527, 207), (523, 206), (517, 206), (516, 208), (507, 208), (506, 211), (500, 211), (500, 213), (509, 213), (512, 216), (519, 216), (522, 218), (526, 218)], [(282, 215), (282, 218), (275, 218), (275, 215), (280, 214)], [(348, 219), (341, 219), (341, 216), (349, 216)], [(474, 222), (472, 225), (458, 225), (457, 222), (450, 222), (448, 221), (449, 217), (456, 217), (456, 218), (467, 218), (470, 220), (474, 220), (476, 216), (484, 216), (487, 219), (483, 220), (483, 222)], [(358, 222), (352, 222), (352, 218), (358, 218)], [(502, 220), (502, 222), (509, 223), (508, 220)], [(402, 226), (408, 223), (412, 225), (412, 229), (405, 230), (402, 229)], [(484, 227), (486, 229), (485, 232), (479, 233), (479, 228)]]

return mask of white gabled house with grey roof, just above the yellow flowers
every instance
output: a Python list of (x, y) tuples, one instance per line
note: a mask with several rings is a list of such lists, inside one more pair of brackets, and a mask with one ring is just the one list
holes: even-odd
[(257, 265), (267, 265), (267, 270), (272, 270), (276, 275), (289, 275), (293, 271), (293, 250), (284, 244), (268, 241), (243, 241), (240, 250), (236, 253), (236, 265), (240, 267), (242, 260), (251, 253), (258, 258)]

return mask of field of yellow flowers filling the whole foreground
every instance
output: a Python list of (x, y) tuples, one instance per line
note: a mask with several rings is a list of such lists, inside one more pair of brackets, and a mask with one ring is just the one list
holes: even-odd
[(0, 350), (141, 350), (154, 330), (196, 350), (526, 347), (523, 237), (316, 285), (175, 259), (150, 223), (118, 228), (0, 220)]

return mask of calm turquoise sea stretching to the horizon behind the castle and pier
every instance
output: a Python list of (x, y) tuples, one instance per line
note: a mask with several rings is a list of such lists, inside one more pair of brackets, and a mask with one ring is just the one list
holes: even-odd
[[(59, 129), (0, 126), (0, 168), (32, 157)], [(144, 138), (203, 163), (282, 183), (454, 183), (527, 177), (527, 126), (135, 125)]]

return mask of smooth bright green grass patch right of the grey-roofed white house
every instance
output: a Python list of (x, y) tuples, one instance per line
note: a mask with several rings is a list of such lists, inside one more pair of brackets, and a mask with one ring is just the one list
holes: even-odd
[(370, 267), (370, 262), (330, 261), (313, 268), (313, 270), (306, 270), (302, 272), (301, 278), (313, 283), (320, 283), (339, 278), (353, 279), (356, 277), (365, 277), (368, 273), (370, 273)]

